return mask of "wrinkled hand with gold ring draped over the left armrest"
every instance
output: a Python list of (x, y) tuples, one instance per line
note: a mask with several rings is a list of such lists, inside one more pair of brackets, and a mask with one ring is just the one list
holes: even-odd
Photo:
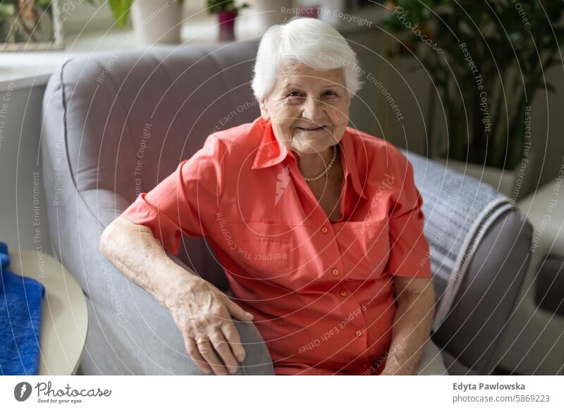
[[(237, 361), (245, 359), (245, 349), (231, 316), (250, 321), (251, 313), (212, 283), (193, 275), (174, 286), (166, 306), (184, 337), (186, 351), (202, 371), (213, 370), (217, 375), (227, 374), (226, 368), (230, 373), (237, 371)], [(197, 344), (200, 337), (209, 341)]]

